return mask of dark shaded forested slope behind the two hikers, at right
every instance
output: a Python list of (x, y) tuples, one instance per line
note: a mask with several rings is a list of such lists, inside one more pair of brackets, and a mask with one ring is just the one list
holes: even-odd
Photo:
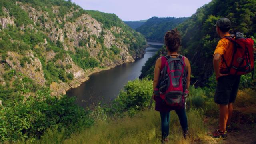
[[(197, 86), (209, 86), (212, 78), (212, 56), (218, 40), (215, 26), (216, 20), (226, 17), (231, 20), (230, 33), (242, 32), (248, 38), (256, 38), (256, 1), (255, 0), (212, 0), (209, 4), (198, 8), (188, 20), (178, 25), (182, 35), (181, 54), (188, 57), (192, 64), (192, 82)], [(154, 62), (160, 56), (150, 58), (142, 68), (142, 77), (154, 70)], [(243, 76), (251, 82), (250, 75)], [(250, 85), (248, 83), (248, 85)]]

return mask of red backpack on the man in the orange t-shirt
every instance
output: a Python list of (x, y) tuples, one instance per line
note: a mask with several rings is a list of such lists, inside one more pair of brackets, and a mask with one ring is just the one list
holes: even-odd
[(228, 66), (224, 56), (222, 59), (228, 68), (228, 74), (242, 75), (253, 72), (254, 70), (254, 54), (253, 54), (253, 40), (245, 38), (244, 34), (237, 32), (234, 36), (225, 36), (224, 38), (234, 43), (234, 53), (232, 56), (231, 65)]

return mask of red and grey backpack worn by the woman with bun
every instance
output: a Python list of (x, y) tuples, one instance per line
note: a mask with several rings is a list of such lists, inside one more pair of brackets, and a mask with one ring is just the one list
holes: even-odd
[(160, 96), (166, 104), (173, 108), (182, 108), (185, 103), (186, 90), (186, 68), (184, 56), (177, 58), (165, 56), (167, 59), (161, 71), (160, 79), (155, 93)]

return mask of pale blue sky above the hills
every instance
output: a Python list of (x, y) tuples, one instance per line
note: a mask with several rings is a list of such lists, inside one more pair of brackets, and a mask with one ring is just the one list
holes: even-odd
[(211, 0), (71, 0), (85, 10), (114, 13), (124, 21), (189, 17)]

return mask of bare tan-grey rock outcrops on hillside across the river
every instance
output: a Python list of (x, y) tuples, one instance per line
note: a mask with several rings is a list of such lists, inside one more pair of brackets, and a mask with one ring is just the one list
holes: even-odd
[[(58, 82), (52, 82), (50, 84), (52, 94), (60, 96), (61, 94), (65, 94), (70, 88), (75, 88), (85, 80), (88, 80), (88, 76), (94, 72), (113, 68), (124, 62), (133, 62), (137, 58), (136, 54), (129, 52), (129, 45), (124, 44), (126, 35), (122, 35), (125, 33), (122, 28), (112, 26), (106, 29), (101, 22), (98, 22), (86, 13), (77, 16), (75, 13), (79, 12), (81, 10), (80, 8), (75, 9), (71, 7), (70, 11), (65, 13), (64, 16), (58, 16), (61, 12), (59, 6), (52, 6), (52, 12), (46, 12), (44, 9), (34, 8), (33, 5), (28, 3), (16, 2), (15, 4), (22, 8), (32, 21), (31, 24), (26, 26), (19, 26), (18, 31), (23, 34), (25, 30), (29, 29), (35, 33), (40, 32), (40, 34), (44, 34), (48, 38), (44, 37), (34, 48), (27, 50), (23, 55), (17, 52), (7, 52), (6, 62), (0, 63), (0, 84), (2, 85), (6, 84), (2, 78), (2, 75), (6, 73), (6, 70), (4, 70), (6, 66), (4, 64), (9, 65), (11, 69), (17, 72), (23, 73), (41, 86), (45, 86), (44, 70), (48, 62), (54, 62), (54, 65), (62, 66), (66, 74), (71, 73), (74, 76), (74, 79), (68, 82), (58, 80)], [(11, 17), (8, 10), (4, 7), (3, 12), (5, 15), (0, 16), (0, 25), (2, 27), (0, 27), (0, 30), (8, 28), (8, 25), (15, 26), (15, 17)], [(74, 16), (77, 17), (73, 18)], [(116, 38), (116, 34), (120, 34), (120, 36)], [(22, 43), (18, 40), (11, 41)], [(56, 60), (58, 51), (49, 50), (48, 48), (52, 43), (56, 45), (57, 43), (60, 44), (61, 46), (59, 47), (66, 51), (63, 58)], [(118, 54), (114, 54), (112, 50), (113, 46), (120, 50)], [(35, 52), (36, 49), (41, 52), (40, 58)], [(100, 63), (100, 66), (105, 68), (96, 67), (84, 70), (79, 67), (80, 64), (75, 59), (72, 59), (76, 56), (78, 49), (88, 52), (90, 58), (95, 59)], [(107, 53), (103, 56), (103, 52), (105, 51)], [(143, 49), (141, 54), (144, 54)], [(25, 62), (21, 66), (20, 63), (24, 56), (29, 58), (31, 62)], [(42, 59), (44, 59), (44, 67), (41, 63)]]

